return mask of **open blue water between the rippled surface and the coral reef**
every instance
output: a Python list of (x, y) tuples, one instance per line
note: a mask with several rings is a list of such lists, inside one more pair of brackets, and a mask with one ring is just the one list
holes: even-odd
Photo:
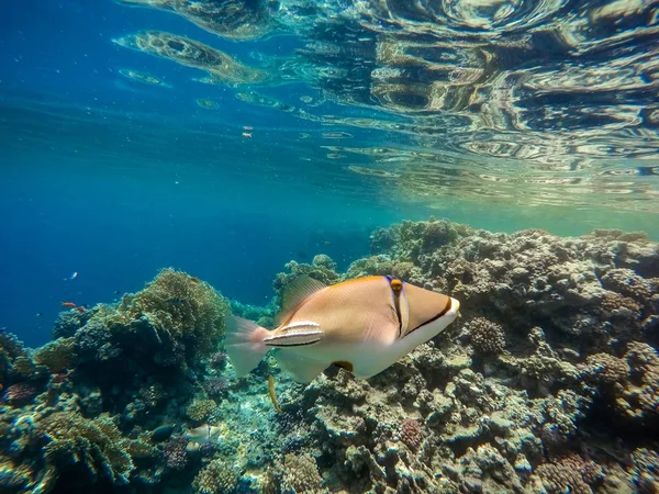
[[(333, 97), (331, 85), (305, 80), (255, 89), (295, 109), (304, 96), (322, 101), (306, 110), (315, 119), (303, 119), (236, 98), (250, 88), (202, 85), (192, 80), (203, 76), (198, 69), (112, 43), (148, 29), (188, 36), (252, 65), (306, 46), (299, 33), (256, 42), (223, 40), (182, 16), (109, 0), (5, 0), (0, 16), (0, 327), (30, 346), (51, 338), (63, 302), (112, 301), (115, 291), (137, 291), (168, 266), (226, 296), (266, 304), (272, 279), (289, 260), (309, 261), (323, 252), (343, 269), (369, 254), (375, 227), (431, 214), (492, 231), (541, 227), (578, 235), (622, 227), (659, 237), (656, 177), (637, 172), (657, 165), (647, 159), (657, 146), (650, 121), (628, 125), (632, 134), (647, 132), (643, 161), (635, 161), (640, 151), (626, 154), (624, 143), (617, 143), (618, 150), (607, 151), (611, 160), (601, 168), (557, 171), (565, 177), (587, 170), (578, 179), (584, 180), (589, 173), (595, 178), (622, 170), (600, 188), (612, 193), (611, 203), (603, 204), (610, 195), (597, 195), (593, 191), (600, 189), (589, 184), (573, 204), (567, 200), (571, 186), (566, 186), (565, 205), (561, 189), (551, 192), (547, 204), (529, 204), (543, 194), (488, 179), (500, 172), (509, 181), (522, 176), (515, 162), (496, 161), (500, 157), (488, 151), (456, 151), (453, 145), (470, 142), (469, 134), (454, 139), (428, 131), (427, 122), (423, 127), (415, 121), (418, 131), (411, 133), (384, 125), (410, 122), (404, 119), (416, 113), (356, 104), (359, 81), (345, 98), (337, 96), (342, 91)], [(648, 49), (656, 44), (644, 40)], [(125, 68), (155, 75), (170, 87), (125, 78), (120, 74)], [(644, 94), (629, 98), (638, 101)], [(219, 108), (209, 111), (196, 99), (212, 99)], [(382, 125), (340, 119), (373, 119)], [(250, 137), (243, 136), (244, 127), (253, 127)], [(337, 132), (346, 134), (327, 135)], [(482, 132), (472, 137), (495, 141)], [(433, 166), (444, 171), (406, 177), (396, 159), (358, 148), (395, 149), (399, 157), (436, 153)], [(569, 149), (581, 153), (578, 146)], [(382, 180), (346, 171), (348, 166), (398, 171)], [(450, 170), (480, 177), (482, 186), (454, 182)], [(543, 167), (535, 170), (548, 173)], [(428, 197), (422, 186), (435, 183), (439, 192)], [(629, 195), (617, 193), (625, 188)], [(469, 200), (455, 193), (462, 189)], [(499, 189), (504, 199), (520, 197), (489, 202)], [(78, 277), (70, 280), (72, 272)]]

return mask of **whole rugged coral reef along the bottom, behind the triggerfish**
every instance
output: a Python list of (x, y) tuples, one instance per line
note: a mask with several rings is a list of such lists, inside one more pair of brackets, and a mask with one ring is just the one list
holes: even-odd
[[(659, 491), (657, 244), (431, 218), (371, 245), (345, 273), (325, 255), (289, 262), (267, 307), (166, 269), (62, 313), (42, 348), (1, 334), (0, 491)], [(301, 385), (271, 358), (236, 380), (224, 316), (272, 327), (300, 274), (393, 274), (457, 297), (462, 318), (367, 381), (328, 369)]]

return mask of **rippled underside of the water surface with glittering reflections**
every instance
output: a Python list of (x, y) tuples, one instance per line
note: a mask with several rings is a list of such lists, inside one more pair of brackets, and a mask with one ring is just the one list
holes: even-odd
[[(231, 40), (299, 38), (290, 55), (244, 61), (165, 32), (115, 43), (201, 68), (205, 83), (260, 86), (236, 93), (248, 104), (398, 135), (404, 145), (336, 143), (328, 156), (395, 178), (405, 198), (659, 211), (655, 2), (283, 0), (267, 12), (237, 1), (122, 3), (166, 9)], [(313, 104), (267, 96), (293, 82), (315, 93)], [(332, 103), (381, 113), (351, 117)], [(368, 166), (350, 162), (364, 156)]]

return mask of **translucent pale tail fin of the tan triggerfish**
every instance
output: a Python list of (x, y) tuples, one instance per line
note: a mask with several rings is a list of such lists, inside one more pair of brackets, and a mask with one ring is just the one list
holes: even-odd
[(269, 333), (252, 321), (236, 316), (226, 318), (226, 355), (238, 378), (247, 375), (268, 352), (270, 348), (264, 339)]

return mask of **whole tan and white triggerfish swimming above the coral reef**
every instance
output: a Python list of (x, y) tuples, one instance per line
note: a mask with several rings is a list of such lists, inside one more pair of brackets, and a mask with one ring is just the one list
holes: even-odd
[(366, 277), (327, 287), (295, 279), (282, 294), (279, 326), (268, 330), (230, 316), (226, 352), (238, 378), (271, 349), (295, 381), (311, 382), (331, 364), (367, 379), (435, 337), (460, 303), (393, 277)]

